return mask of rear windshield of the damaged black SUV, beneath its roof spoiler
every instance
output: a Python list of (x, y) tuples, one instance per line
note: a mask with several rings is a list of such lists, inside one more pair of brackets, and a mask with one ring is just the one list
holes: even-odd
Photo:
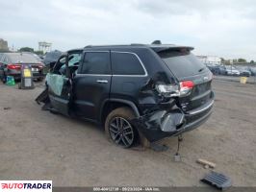
[(206, 66), (189, 51), (164, 51), (158, 55), (177, 78), (193, 76), (206, 69)]

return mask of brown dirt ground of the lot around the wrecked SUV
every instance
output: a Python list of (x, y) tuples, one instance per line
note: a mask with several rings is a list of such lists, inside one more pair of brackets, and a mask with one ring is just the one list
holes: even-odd
[[(0, 84), (0, 180), (53, 180), (55, 186), (202, 185), (206, 158), (234, 186), (256, 186), (256, 86), (216, 81), (211, 119), (184, 134), (182, 162), (169, 150), (124, 150), (95, 125), (42, 111), (34, 102), (43, 86), (18, 90)], [(4, 109), (9, 108), (9, 109)]]

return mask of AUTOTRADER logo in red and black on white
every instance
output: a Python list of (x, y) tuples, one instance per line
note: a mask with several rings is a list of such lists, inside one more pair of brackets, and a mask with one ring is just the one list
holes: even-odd
[(0, 180), (0, 192), (52, 191), (52, 180)]

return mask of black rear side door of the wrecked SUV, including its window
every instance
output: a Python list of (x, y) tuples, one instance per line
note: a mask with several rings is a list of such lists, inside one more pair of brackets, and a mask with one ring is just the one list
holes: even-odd
[(110, 97), (112, 83), (109, 51), (84, 52), (74, 77), (74, 106), (78, 116), (97, 120), (101, 104)]

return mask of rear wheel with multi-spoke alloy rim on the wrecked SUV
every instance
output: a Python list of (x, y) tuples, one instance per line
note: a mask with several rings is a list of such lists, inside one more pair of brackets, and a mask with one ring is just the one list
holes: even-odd
[(130, 120), (135, 118), (130, 108), (115, 108), (106, 118), (105, 133), (109, 140), (123, 148), (130, 148), (138, 141), (139, 133)]

